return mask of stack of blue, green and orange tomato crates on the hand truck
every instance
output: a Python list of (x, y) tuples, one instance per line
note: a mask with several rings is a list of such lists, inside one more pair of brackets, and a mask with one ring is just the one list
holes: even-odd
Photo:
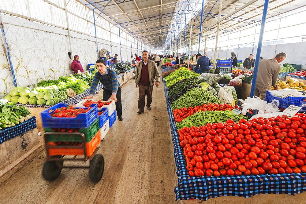
[(49, 156), (85, 155), (85, 149), (91, 156), (101, 141), (97, 104), (84, 108), (56, 104), (41, 116)]

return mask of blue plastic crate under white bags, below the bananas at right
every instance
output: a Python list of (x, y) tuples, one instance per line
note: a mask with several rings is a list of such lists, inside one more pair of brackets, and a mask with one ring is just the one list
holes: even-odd
[(279, 107), (281, 108), (287, 108), (289, 105), (299, 106), (302, 107), (300, 111), (306, 110), (306, 96), (305, 97), (286, 97), (286, 98), (278, 98), (274, 97), (270, 93), (271, 91), (266, 92), (266, 101), (268, 103), (271, 103), (272, 100), (278, 100), (279, 101)]

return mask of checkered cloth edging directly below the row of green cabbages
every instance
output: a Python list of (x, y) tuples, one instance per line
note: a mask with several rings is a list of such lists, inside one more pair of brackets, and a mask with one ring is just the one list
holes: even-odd
[[(98, 91), (100, 91), (102, 89), (103, 89), (103, 85), (101, 83), (98, 84), (97, 85), (97, 89), (95, 91), (95, 95), (98, 93)], [(81, 100), (83, 100), (84, 97), (88, 96), (89, 95), (89, 91), (90, 91), (90, 89), (87, 89), (83, 93), (80, 93), (80, 94), (78, 94), (78, 95), (76, 95), (74, 97), (62, 100), (59, 103), (67, 104), (67, 106), (75, 105), (75, 104), (79, 103)], [(17, 103), (16, 105), (17, 106), (24, 106), (24, 107), (27, 107), (27, 108), (38, 108), (38, 107), (41, 107), (41, 108), (50, 108), (51, 106), (54, 106), (54, 105), (47, 106), (47, 105), (38, 105), (38, 104), (32, 105), (32, 104), (21, 104), (21, 103)]]

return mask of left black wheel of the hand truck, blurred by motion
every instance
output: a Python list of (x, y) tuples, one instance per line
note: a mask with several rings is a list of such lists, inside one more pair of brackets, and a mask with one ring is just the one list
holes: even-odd
[[(54, 156), (53, 158), (61, 158), (61, 156)], [(48, 181), (55, 180), (61, 173), (63, 161), (47, 161), (43, 163), (43, 178)]]

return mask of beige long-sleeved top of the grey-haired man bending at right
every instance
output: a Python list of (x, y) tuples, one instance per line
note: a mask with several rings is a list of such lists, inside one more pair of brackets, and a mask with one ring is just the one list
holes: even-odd
[(262, 59), (259, 61), (256, 86), (271, 89), (277, 86), (277, 79), (281, 66), (275, 59)]

